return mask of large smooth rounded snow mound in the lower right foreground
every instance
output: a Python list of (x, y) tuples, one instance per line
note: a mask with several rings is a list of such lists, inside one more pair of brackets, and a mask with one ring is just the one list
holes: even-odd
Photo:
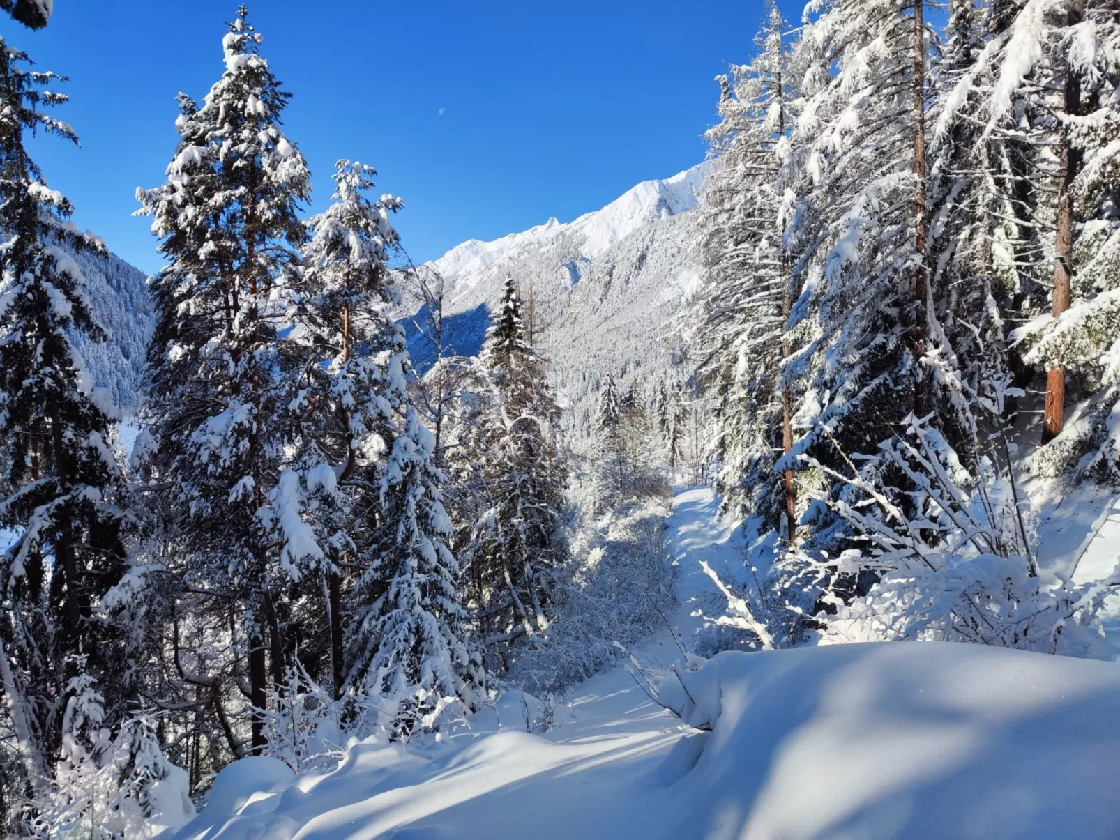
[(1116, 663), (860, 644), (726, 653), (682, 680), (664, 697), (711, 734), (680, 836), (1120, 837)]

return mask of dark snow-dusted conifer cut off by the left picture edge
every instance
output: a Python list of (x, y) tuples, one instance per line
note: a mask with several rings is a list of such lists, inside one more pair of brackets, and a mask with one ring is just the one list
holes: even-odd
[(45, 90), (59, 77), (27, 64), (0, 40), (0, 526), (16, 538), (0, 554), (0, 680), (24, 783), (41, 792), (77, 676), (71, 654), (85, 654), (106, 691), (120, 689), (122, 663), (97, 607), (124, 571), (125, 514), (110, 444), (120, 414), (67, 338), (103, 334), (81, 271), (49, 243), (103, 246), (65, 221), (69, 202), (25, 148), (35, 130), (76, 141), (40, 111), (66, 101)]

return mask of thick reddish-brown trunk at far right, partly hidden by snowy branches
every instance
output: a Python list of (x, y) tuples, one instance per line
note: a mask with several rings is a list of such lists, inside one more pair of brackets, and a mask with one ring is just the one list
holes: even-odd
[[(1075, 0), (1067, 21), (1077, 24), (1084, 11), (1084, 0)], [(1065, 71), (1065, 112), (1076, 115), (1081, 103), (1081, 83), (1068, 66)], [(1051, 311), (1054, 317), (1070, 308), (1070, 280), (1073, 276), (1073, 200), (1070, 188), (1081, 170), (1082, 153), (1070, 143), (1066, 136), (1061, 150), (1062, 186), (1057, 199), (1057, 233), (1054, 242), (1054, 293)], [(1043, 444), (1062, 433), (1065, 424), (1065, 368), (1052, 367), (1046, 372), (1046, 409), (1043, 417)]]

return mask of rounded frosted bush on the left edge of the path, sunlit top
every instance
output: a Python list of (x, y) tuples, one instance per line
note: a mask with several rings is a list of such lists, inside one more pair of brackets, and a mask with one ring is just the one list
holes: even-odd
[(558, 691), (614, 663), (616, 642), (636, 644), (664, 620), (675, 604), (669, 513), (661, 501), (647, 501), (580, 523), (573, 582), (558, 594), (548, 632), (510, 669), (510, 684)]

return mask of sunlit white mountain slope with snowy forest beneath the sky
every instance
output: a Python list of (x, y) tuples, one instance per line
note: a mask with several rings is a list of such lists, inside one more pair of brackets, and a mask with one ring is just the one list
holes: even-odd
[[(447, 282), (447, 314), (470, 329), (485, 321), (465, 316), (492, 310), (506, 277), (532, 296), (538, 344), (577, 437), (604, 374), (626, 388), (660, 380), (670, 365), (673, 321), (699, 277), (693, 211), (703, 172), (701, 164), (644, 181), (573, 222), (550, 218), (493, 242), (470, 240), (428, 263)], [(458, 343), (469, 349), (478, 338), (459, 335)], [(410, 349), (422, 367), (430, 348), (421, 345)]]

